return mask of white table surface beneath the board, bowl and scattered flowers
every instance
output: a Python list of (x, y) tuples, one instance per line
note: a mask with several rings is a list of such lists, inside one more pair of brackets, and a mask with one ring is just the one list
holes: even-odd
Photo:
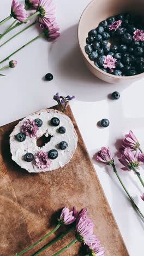
[[(89, 73), (82, 61), (77, 44), (77, 24), (88, 2), (89, 0), (56, 1), (61, 37), (55, 43), (38, 39), (12, 57), (18, 61), (18, 66), (5, 70), (3, 73), (7, 77), (0, 78), (0, 125), (25, 117), (35, 110), (51, 107), (55, 104), (53, 95), (59, 92), (63, 96), (76, 96), (76, 100), (71, 102), (71, 108), (92, 158), (101, 146), (109, 146), (116, 155), (119, 139), (130, 129), (135, 132), (144, 150), (144, 80), (130, 85), (107, 84)], [(1, 20), (9, 15), (10, 4), (11, 0), (0, 1)], [(1, 32), (7, 26), (8, 23), (0, 27)], [(0, 48), (0, 59), (37, 34), (35, 27), (22, 33)], [(8, 36), (2, 42), (6, 38)], [(49, 72), (54, 79), (52, 82), (45, 82), (44, 75)], [(112, 101), (109, 94), (116, 90), (121, 92), (121, 98)], [(110, 120), (110, 126), (106, 129), (97, 126), (97, 122), (103, 118)], [(115, 159), (124, 184), (144, 212), (144, 202), (140, 199), (144, 192), (142, 185), (134, 173), (121, 171), (117, 156)], [(131, 207), (111, 168), (98, 164), (94, 158), (93, 164), (130, 256), (143, 256), (144, 224)], [(144, 178), (143, 167), (141, 174)]]

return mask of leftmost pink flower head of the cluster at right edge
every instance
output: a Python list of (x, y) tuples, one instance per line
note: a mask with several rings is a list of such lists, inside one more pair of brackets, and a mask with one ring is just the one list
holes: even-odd
[(112, 165), (114, 162), (110, 149), (105, 147), (101, 148), (101, 150), (98, 152), (98, 155), (96, 156), (96, 159), (98, 161), (104, 162), (106, 165)]

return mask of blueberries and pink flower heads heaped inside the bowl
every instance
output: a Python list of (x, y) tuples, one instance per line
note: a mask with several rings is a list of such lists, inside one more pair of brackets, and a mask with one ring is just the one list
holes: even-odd
[(144, 72), (144, 25), (138, 20), (118, 14), (88, 32), (85, 51), (95, 66), (118, 76)]

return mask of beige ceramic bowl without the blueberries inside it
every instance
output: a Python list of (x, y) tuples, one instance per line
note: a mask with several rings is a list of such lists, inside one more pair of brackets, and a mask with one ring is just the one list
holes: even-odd
[[(143, 17), (144, 0), (93, 0), (83, 11), (78, 28), (78, 40), (83, 59), (88, 69), (98, 78), (108, 83), (130, 83), (143, 77), (144, 73), (131, 77), (118, 77), (96, 67), (85, 53), (87, 34), (99, 22), (119, 13), (135, 13)], [(143, 18), (142, 18), (143, 19)]]

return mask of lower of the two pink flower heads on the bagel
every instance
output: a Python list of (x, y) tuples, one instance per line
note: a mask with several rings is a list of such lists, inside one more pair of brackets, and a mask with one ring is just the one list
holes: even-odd
[(51, 160), (48, 158), (47, 153), (43, 151), (38, 151), (35, 154), (35, 163), (40, 170), (49, 168), (51, 165)]

